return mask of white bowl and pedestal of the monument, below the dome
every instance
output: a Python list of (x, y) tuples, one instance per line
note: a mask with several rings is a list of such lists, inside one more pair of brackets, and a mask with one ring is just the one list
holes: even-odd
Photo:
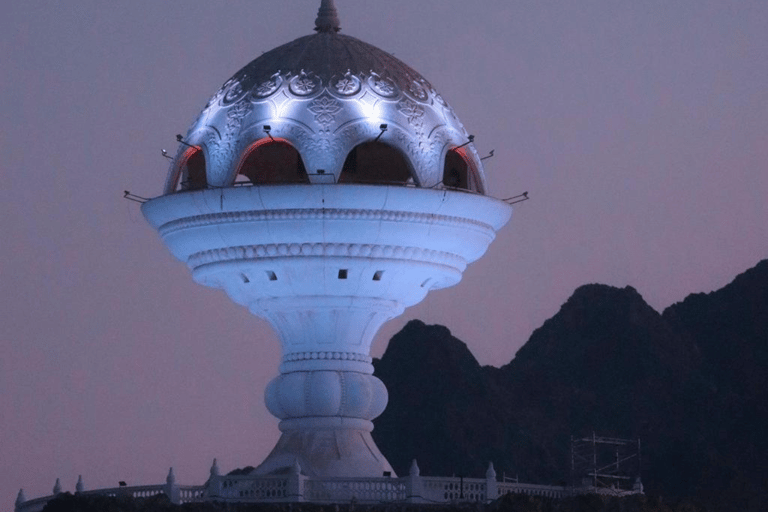
[(262, 475), (381, 477), (371, 438), (387, 392), (376, 331), (461, 280), (511, 207), (487, 196), (386, 185), (273, 185), (170, 194), (142, 206), (195, 281), (266, 318), (283, 348), (266, 402), (283, 436)]

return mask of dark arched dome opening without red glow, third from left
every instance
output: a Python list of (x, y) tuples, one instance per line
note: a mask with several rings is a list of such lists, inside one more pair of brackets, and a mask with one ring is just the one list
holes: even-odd
[(413, 182), (413, 175), (403, 154), (378, 141), (355, 146), (347, 155), (339, 175), (339, 183), (408, 182)]

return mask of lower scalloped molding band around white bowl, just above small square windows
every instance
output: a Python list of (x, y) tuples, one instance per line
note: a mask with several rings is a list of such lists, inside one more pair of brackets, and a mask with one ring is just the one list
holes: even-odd
[(225, 247), (192, 254), (187, 260), (189, 268), (196, 268), (209, 263), (233, 260), (253, 260), (259, 258), (341, 256), (345, 258), (383, 258), (395, 260), (422, 261), (438, 263), (456, 268), (464, 268), (466, 260), (444, 251), (423, 249), (421, 247), (403, 247), (399, 245), (375, 244), (265, 244)]

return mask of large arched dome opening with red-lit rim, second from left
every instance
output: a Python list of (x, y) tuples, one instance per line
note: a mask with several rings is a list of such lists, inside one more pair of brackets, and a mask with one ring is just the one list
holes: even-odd
[(245, 152), (237, 170), (254, 185), (309, 183), (307, 170), (296, 148), (283, 139), (262, 139)]

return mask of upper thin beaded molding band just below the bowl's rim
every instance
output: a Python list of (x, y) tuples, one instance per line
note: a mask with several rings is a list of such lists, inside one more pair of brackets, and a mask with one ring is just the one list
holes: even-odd
[(392, 210), (362, 210), (347, 208), (304, 208), (284, 210), (251, 210), (247, 212), (222, 212), (195, 215), (174, 220), (158, 228), (161, 237), (174, 231), (222, 224), (227, 222), (254, 222), (266, 220), (372, 220), (395, 222), (420, 222), (447, 226), (475, 226), (494, 232), (488, 224), (472, 219), (434, 213), (403, 212)]

